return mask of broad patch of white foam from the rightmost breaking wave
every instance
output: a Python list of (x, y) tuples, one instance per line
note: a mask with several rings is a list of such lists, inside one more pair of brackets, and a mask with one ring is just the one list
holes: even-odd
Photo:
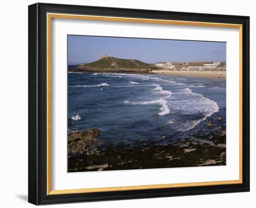
[(202, 114), (202, 118), (191, 120), (187, 123), (182, 123), (177, 126), (178, 131), (188, 131), (193, 129), (197, 124), (206, 120), (207, 117), (219, 110), (218, 104), (204, 97), (201, 94), (193, 92), (189, 88), (184, 88), (177, 92), (173, 92), (173, 97), (179, 97), (178, 100), (172, 101), (172, 108), (183, 115)]

